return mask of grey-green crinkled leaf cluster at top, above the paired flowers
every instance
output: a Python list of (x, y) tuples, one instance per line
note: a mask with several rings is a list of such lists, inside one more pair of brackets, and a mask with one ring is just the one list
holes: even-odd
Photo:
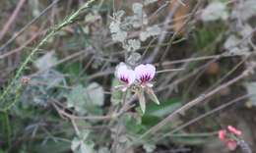
[[(148, 5), (154, 2), (156, 1), (150, 0), (144, 3)], [(121, 42), (123, 48), (128, 52), (139, 50), (141, 48), (141, 41), (146, 41), (149, 37), (160, 34), (159, 26), (148, 26), (148, 16), (144, 11), (144, 5), (142, 3), (133, 3), (132, 11), (133, 15), (128, 17), (124, 17), (125, 12), (123, 10), (117, 11), (113, 14), (113, 21), (109, 26), (112, 39)], [(140, 28), (140, 39), (128, 39), (129, 31)]]

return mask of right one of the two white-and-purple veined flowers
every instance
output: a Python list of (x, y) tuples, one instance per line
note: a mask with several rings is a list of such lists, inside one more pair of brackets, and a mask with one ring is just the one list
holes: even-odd
[(135, 68), (136, 79), (142, 85), (142, 87), (152, 87), (150, 82), (156, 75), (156, 67), (151, 64), (139, 65)]

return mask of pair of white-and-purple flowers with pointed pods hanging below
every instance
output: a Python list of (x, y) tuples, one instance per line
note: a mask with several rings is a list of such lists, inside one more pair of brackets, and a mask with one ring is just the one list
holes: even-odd
[(124, 63), (117, 65), (115, 69), (115, 77), (122, 83), (116, 86), (116, 88), (125, 92), (127, 89), (134, 91), (140, 102), (141, 110), (143, 113), (146, 111), (146, 101), (144, 92), (146, 91), (150, 98), (160, 104), (156, 94), (154, 93), (152, 87), (153, 78), (156, 75), (156, 67), (152, 64), (141, 64), (135, 67), (134, 70)]

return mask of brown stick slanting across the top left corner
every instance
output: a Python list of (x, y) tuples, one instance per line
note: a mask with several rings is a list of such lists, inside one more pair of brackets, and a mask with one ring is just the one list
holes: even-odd
[(25, 2), (26, 2), (26, 0), (20, 0), (19, 3), (17, 4), (11, 18), (8, 20), (8, 22), (5, 24), (5, 26), (3, 27), (3, 29), (0, 32), (0, 40), (2, 40), (2, 38), (5, 36), (6, 32), (8, 31), (9, 27), (14, 23), (17, 15), (19, 14), (19, 12)]

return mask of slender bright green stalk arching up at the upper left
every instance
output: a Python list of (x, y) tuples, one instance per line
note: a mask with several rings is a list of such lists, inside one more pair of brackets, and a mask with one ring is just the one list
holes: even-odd
[[(41, 46), (43, 46), (51, 37), (53, 37), (61, 28), (63, 28), (64, 26), (68, 26), (70, 24), (73, 24), (74, 21), (76, 20), (76, 18), (80, 15), (80, 13), (82, 11), (84, 11), (85, 9), (87, 9), (89, 7), (90, 4), (92, 4), (93, 2), (95, 2), (96, 0), (90, 0), (88, 2), (86, 2), (81, 8), (79, 8), (76, 12), (74, 12), (73, 14), (71, 14), (70, 16), (68, 16), (66, 19), (64, 19), (64, 21), (62, 23), (60, 23), (59, 25), (53, 26), (49, 29), (49, 31), (47, 32), (47, 34), (39, 41), (39, 43), (32, 49), (32, 53), (28, 56), (28, 58), (23, 62), (23, 64), (21, 65), (21, 67), (19, 68), (19, 70), (17, 71), (15, 77), (12, 79), (11, 83), (6, 87), (6, 89), (3, 91), (3, 93), (0, 96), (0, 101), (4, 101), (4, 98), (6, 97), (6, 95), (8, 93), (10, 93), (10, 90), (12, 89), (13, 85), (16, 85), (16, 81), (19, 79), (19, 77), (22, 76), (23, 71), (25, 70), (25, 68), (27, 67), (27, 65), (32, 61), (33, 56), (37, 53), (37, 51), (39, 50), (39, 48)], [(22, 88), (22, 84), (18, 83), (16, 88), (16, 93), (18, 95), (16, 95), (16, 100), (14, 100), (13, 102), (11, 102), (10, 104), (7, 104), (6, 106), (2, 107), (1, 111), (7, 111), (9, 110), (16, 102), (17, 102), (17, 98), (19, 98), (20, 93), (18, 92), (18, 90), (20, 90)]]

